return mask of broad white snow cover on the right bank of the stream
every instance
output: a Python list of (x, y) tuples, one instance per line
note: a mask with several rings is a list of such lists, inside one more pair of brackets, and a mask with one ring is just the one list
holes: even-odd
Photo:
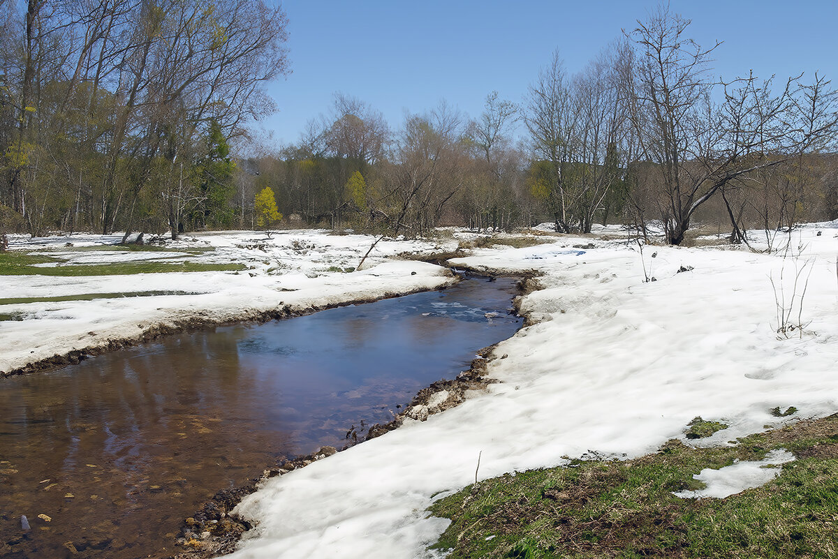
[[(505, 358), (490, 364), (502, 382), (427, 422), (268, 481), (238, 508), (258, 526), (232, 557), (430, 556), (426, 546), (447, 521), (426, 508), (473, 482), (478, 456), (485, 479), (585, 454), (646, 454), (683, 439), (696, 416), (730, 425), (702, 444), (727, 444), (838, 411), (838, 228), (801, 228), (791, 241), (803, 254), (641, 254), (624, 242), (557, 237), (458, 260), (544, 274), (545, 289), (523, 302), (537, 323), (500, 344)], [(795, 266), (801, 278), (811, 274), (802, 312), (791, 313), (804, 331), (787, 339), (777, 334), (775, 295), (801, 303)], [(778, 406), (799, 412), (776, 418)]]

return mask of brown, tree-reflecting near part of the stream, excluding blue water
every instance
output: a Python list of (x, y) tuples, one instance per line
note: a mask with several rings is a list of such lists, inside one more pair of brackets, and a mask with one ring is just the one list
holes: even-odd
[(178, 336), (4, 379), (0, 459), (13, 459), (17, 472), (0, 483), (0, 508), (9, 513), (0, 532), (17, 533), (20, 514), (39, 522), (45, 512), (53, 516), (49, 536), (20, 551), (61, 556), (63, 542), (83, 536), (113, 538), (108, 555), (119, 556), (132, 542), (164, 541), (215, 490), (261, 471), (282, 436), (242, 438), (241, 421), (221, 421), (249, 406), (257, 387), (240, 372), (235, 338), (213, 336)]

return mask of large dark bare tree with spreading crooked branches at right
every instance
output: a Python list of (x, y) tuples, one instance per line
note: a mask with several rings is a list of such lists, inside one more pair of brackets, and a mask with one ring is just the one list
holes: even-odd
[(690, 20), (664, 6), (638, 23), (629, 112), (642, 156), (660, 173), (657, 210), (668, 243), (680, 244), (696, 210), (738, 177), (834, 139), (838, 97), (829, 81), (797, 76), (777, 94), (770, 79), (753, 75), (718, 84), (707, 73), (719, 44), (704, 49), (687, 38)]

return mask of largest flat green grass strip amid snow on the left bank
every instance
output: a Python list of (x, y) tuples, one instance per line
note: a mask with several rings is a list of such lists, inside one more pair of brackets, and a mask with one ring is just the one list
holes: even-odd
[[(36, 267), (48, 262), (57, 266)], [(0, 253), (0, 275), (91, 276), (157, 274), (161, 272), (223, 272), (247, 269), (244, 264), (203, 264), (197, 262), (115, 262), (110, 264), (62, 264), (44, 254)]]

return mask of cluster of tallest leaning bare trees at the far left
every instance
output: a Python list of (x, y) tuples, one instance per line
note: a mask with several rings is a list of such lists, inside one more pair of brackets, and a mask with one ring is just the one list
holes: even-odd
[(161, 206), (207, 208), (212, 194), (193, 187), (211, 127), (223, 140), (245, 134), (273, 110), (266, 82), (288, 71), (287, 18), (262, 0), (3, 8), (0, 202), (32, 234), (55, 222), (130, 229)]

